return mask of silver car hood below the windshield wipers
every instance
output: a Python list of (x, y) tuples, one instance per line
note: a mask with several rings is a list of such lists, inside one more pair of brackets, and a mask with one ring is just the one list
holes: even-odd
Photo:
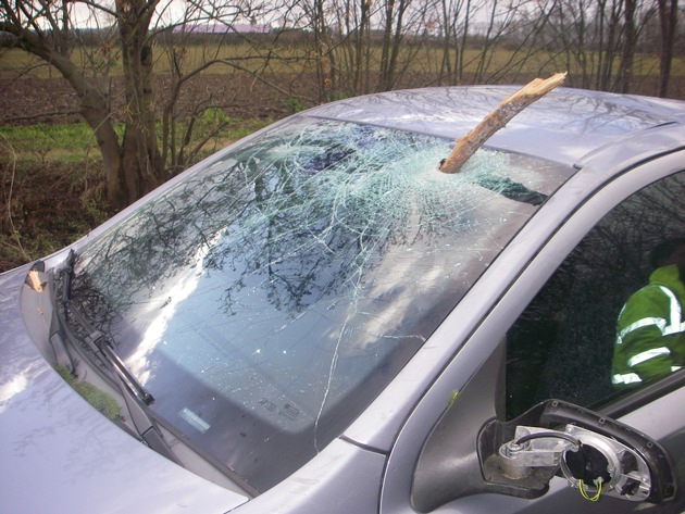
[(247, 501), (151, 451), (58, 375), (22, 318), (27, 272), (0, 275), (0, 512), (204, 514)]

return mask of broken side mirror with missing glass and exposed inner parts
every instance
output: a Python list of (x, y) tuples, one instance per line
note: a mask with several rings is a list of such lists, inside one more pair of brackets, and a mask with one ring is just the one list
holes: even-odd
[(547, 400), (511, 422), (487, 423), (471, 441), (454, 441), (446, 429), (450, 411), (459, 410), (434, 427), (414, 469), (412, 504), (420, 512), (484, 492), (537, 498), (555, 475), (587, 499), (660, 503), (675, 494), (667, 452), (593, 411)]

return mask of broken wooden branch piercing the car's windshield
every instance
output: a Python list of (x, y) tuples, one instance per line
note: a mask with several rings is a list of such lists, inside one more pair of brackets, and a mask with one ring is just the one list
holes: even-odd
[(461, 166), (473, 155), (493, 134), (502, 128), (509, 121), (539, 100), (549, 91), (561, 85), (566, 73), (557, 73), (547, 79), (536, 78), (502, 100), (493, 112), (483, 118), (475, 128), (458, 139), (449, 156), (440, 163), (440, 172), (458, 173)]

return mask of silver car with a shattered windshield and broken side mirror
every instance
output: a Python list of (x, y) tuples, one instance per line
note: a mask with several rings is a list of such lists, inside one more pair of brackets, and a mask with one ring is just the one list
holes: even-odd
[(685, 102), (558, 89), (439, 172), (514, 90), (299, 113), (0, 275), (0, 512), (685, 511), (685, 371), (612, 380)]

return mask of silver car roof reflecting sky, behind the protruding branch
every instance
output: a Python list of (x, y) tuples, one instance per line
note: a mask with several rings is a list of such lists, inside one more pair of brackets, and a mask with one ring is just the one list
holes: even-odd
[[(459, 139), (516, 86), (389, 91), (328, 103), (304, 114)], [(685, 102), (558, 88), (519, 113), (487, 146), (569, 165), (653, 127), (685, 124)]]

